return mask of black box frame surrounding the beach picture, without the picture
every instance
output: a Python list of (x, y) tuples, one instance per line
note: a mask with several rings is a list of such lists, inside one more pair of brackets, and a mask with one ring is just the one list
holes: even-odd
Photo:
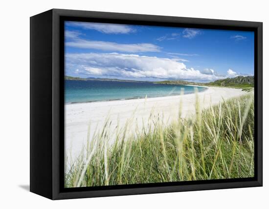
[[(255, 177), (174, 183), (64, 188), (64, 21), (254, 31)], [(51, 9), (30, 18), (30, 191), (70, 199), (262, 186), (263, 24)]]

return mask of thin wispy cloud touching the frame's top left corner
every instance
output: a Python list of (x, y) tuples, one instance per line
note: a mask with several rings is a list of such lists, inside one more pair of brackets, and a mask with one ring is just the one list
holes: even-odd
[(85, 22), (67, 22), (67, 26), (82, 27), (84, 29), (93, 29), (102, 33), (130, 33), (135, 32), (131, 26), (122, 24), (109, 24), (109, 23), (85, 23)]

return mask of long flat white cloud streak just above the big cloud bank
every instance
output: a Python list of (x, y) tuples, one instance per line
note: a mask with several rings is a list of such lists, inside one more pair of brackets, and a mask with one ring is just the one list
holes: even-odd
[(159, 52), (160, 47), (154, 44), (118, 44), (107, 41), (91, 41), (83, 39), (73, 39), (66, 43), (68, 47), (82, 48), (82, 49), (96, 49), (113, 52)]

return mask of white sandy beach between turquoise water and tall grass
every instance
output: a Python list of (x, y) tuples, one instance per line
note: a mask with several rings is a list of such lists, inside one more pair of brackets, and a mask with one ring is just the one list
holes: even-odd
[[(210, 104), (218, 104), (223, 99), (229, 99), (246, 94), (241, 89), (208, 87), (207, 90), (198, 93), (201, 108)], [(151, 112), (154, 116), (163, 115), (167, 125), (179, 114), (179, 101), (182, 99), (182, 117), (191, 116), (195, 112), (195, 94), (182, 96), (167, 96), (147, 99), (117, 100), (109, 102), (65, 104), (65, 150), (66, 154), (77, 157), (84, 144), (87, 142), (87, 132), (90, 124), (90, 137), (94, 130), (101, 129), (108, 115), (110, 115), (111, 129), (115, 130), (119, 121), (119, 127), (123, 127), (130, 118), (133, 121), (131, 129), (142, 126), (142, 121), (147, 121)], [(131, 130), (132, 131), (132, 130)], [(113, 142), (114, 134), (111, 134)]]

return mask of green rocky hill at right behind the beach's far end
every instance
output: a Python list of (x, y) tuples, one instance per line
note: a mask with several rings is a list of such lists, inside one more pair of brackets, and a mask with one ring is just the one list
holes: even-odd
[(189, 82), (185, 80), (164, 80), (157, 81), (158, 84), (174, 84), (174, 85), (201, 85), (201, 86), (228, 86), (228, 87), (254, 87), (254, 76), (238, 76), (235, 78), (225, 78), (215, 80), (208, 83)]

